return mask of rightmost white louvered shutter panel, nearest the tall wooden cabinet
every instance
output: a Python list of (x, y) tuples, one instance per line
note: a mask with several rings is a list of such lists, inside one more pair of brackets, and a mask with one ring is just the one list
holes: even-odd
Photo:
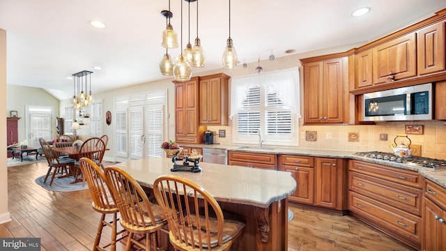
[(161, 157), (164, 128), (164, 105), (148, 105), (146, 109), (146, 158)]

